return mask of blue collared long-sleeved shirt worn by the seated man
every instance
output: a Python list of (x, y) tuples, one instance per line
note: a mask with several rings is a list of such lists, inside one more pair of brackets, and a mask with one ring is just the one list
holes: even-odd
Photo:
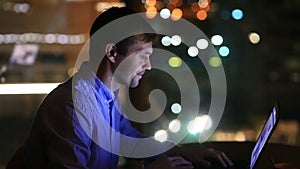
[(118, 96), (82, 64), (39, 107), (24, 144), (26, 167), (117, 168), (121, 141), (113, 133), (143, 137), (120, 111)]

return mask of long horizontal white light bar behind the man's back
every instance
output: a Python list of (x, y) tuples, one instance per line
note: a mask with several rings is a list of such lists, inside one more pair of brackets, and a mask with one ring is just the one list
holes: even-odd
[(8, 94), (48, 94), (59, 83), (0, 84), (0, 95)]

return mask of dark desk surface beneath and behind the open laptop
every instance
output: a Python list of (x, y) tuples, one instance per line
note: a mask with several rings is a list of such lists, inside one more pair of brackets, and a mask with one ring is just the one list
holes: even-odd
[[(225, 152), (231, 159), (249, 159), (254, 142), (207, 142), (202, 145)], [(184, 146), (199, 147), (200, 144), (185, 144)], [(275, 162), (291, 163), (300, 168), (300, 147), (277, 143), (268, 143), (257, 161), (255, 169), (273, 169)]]

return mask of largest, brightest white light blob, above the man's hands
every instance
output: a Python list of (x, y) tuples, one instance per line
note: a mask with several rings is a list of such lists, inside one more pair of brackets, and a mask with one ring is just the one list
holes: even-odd
[(211, 128), (211, 125), (212, 121), (208, 115), (199, 116), (189, 122), (188, 132), (191, 134), (197, 134), (203, 130), (208, 130)]

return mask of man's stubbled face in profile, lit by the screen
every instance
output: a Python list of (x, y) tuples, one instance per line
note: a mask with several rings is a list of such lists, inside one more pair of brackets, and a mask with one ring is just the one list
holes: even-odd
[(116, 57), (115, 80), (118, 83), (137, 87), (146, 70), (151, 69), (152, 42), (136, 40), (127, 49), (127, 54)]

